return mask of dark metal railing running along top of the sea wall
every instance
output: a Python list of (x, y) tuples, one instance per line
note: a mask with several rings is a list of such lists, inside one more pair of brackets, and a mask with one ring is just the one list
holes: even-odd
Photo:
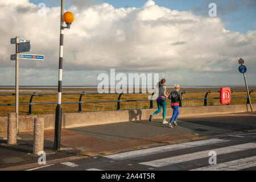
[[(171, 91), (168, 91), (170, 93)], [(212, 100), (212, 99), (219, 99), (220, 97), (208, 97), (209, 93), (219, 93), (220, 91), (213, 91), (213, 90), (208, 90), (208, 91), (181, 91), (181, 96), (186, 93), (205, 93), (204, 98), (184, 98), (183, 100), (204, 100), (204, 106), (208, 105), (207, 100)], [(246, 92), (245, 90), (241, 91), (236, 91), (236, 90), (231, 90), (231, 93), (235, 92)], [(254, 92), (254, 90), (250, 90), (249, 94)], [(117, 102), (117, 110), (121, 109), (121, 102), (142, 102), (142, 101), (150, 101), (150, 109), (153, 108), (153, 96), (154, 92), (146, 92), (144, 94), (151, 94), (151, 99), (150, 100), (121, 100), (121, 96), (123, 94), (141, 94), (142, 92), (127, 92), (127, 93), (97, 93), (97, 92), (81, 92), (81, 93), (62, 93), (63, 95), (80, 95), (79, 101), (78, 102), (62, 102), (61, 104), (79, 104), (79, 110), (78, 112), (82, 112), (82, 104), (86, 103), (99, 103), (99, 102)], [(85, 95), (91, 95), (91, 94), (119, 94), (118, 100), (112, 100), (112, 101), (82, 101), (82, 96)], [(41, 102), (41, 103), (33, 103), (33, 98), (35, 96), (53, 96), (57, 95), (57, 93), (20, 93), (20, 96), (31, 96), (30, 97), (30, 102), (29, 103), (20, 103), (19, 105), (29, 105), (28, 108), (28, 114), (32, 114), (32, 105), (51, 105), (51, 104), (57, 104), (57, 102)], [(1, 93), (0, 96), (15, 96), (15, 93)], [(247, 103), (249, 104), (249, 97), (231, 97), (231, 98), (247, 98)], [(256, 98), (256, 97), (251, 97), (251, 98)], [(170, 99), (166, 99), (170, 100)], [(13, 106), (15, 104), (0, 104), (0, 106)], [(182, 106), (182, 101), (180, 101), (180, 107)]]

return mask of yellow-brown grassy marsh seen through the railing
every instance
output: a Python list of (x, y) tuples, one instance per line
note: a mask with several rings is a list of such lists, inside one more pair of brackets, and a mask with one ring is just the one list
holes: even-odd
[[(255, 88), (250, 88), (250, 90)], [(171, 91), (172, 89), (167, 89)], [(181, 89), (183, 90), (183, 89)], [(185, 89), (186, 91), (203, 91), (209, 89)], [(219, 89), (210, 89), (219, 90)], [(245, 89), (232, 89), (232, 90), (245, 90)], [(82, 90), (83, 91), (83, 90)], [(82, 92), (78, 90), (77, 92)], [(0, 93), (13, 93), (13, 92), (0, 92)], [(32, 92), (22, 92), (22, 93), (32, 93)], [(46, 92), (36, 92), (36, 93), (46, 93)], [(56, 93), (56, 92), (47, 92)], [(110, 101), (117, 100), (119, 94), (93, 94), (85, 95), (82, 97), (82, 101)], [(150, 94), (124, 94), (121, 100), (147, 100)], [(185, 93), (183, 98), (204, 98), (205, 93)], [(247, 93), (232, 93), (232, 97), (246, 97)], [(256, 96), (256, 93), (251, 93), (251, 96)], [(62, 102), (77, 102), (79, 101), (80, 95), (63, 95)], [(219, 97), (219, 93), (209, 93), (208, 97)], [(29, 103), (30, 96), (19, 96), (19, 103)], [(234, 98), (231, 100), (232, 105), (234, 104), (246, 104), (246, 98)], [(57, 96), (34, 96), (33, 103), (39, 102), (57, 102)], [(171, 101), (167, 101), (167, 107), (170, 106)], [(252, 103), (256, 103), (256, 98), (251, 98)], [(14, 104), (15, 96), (0, 96), (0, 104)], [(153, 101), (154, 108), (157, 108), (156, 101)], [(182, 106), (203, 106), (204, 100), (184, 100)], [(208, 105), (220, 105), (218, 99), (208, 100)], [(63, 104), (64, 113), (74, 113), (79, 109), (79, 104)], [(143, 102), (121, 102), (121, 109), (146, 109), (150, 107), (150, 101)], [(0, 106), (0, 116), (7, 116), (7, 113), (15, 111), (15, 106)], [(55, 113), (56, 105), (33, 105), (32, 114), (50, 114)], [(109, 103), (93, 103), (93, 104), (82, 104), (82, 111), (102, 111), (102, 110), (116, 110), (117, 102)], [(28, 105), (19, 106), (19, 114), (26, 115), (28, 113)]]

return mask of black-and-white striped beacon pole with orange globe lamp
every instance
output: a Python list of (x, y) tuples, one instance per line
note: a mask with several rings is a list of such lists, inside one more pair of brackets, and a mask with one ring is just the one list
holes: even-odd
[[(61, 107), (61, 84), (62, 84), (62, 68), (63, 68), (63, 38), (64, 28), (70, 28), (74, 20), (74, 15), (71, 12), (64, 13), (65, 0), (61, 0), (60, 12), (60, 52), (59, 52), (59, 81), (58, 81), (58, 95), (57, 106), (55, 111), (55, 134), (54, 134), (54, 149), (60, 150), (60, 135), (61, 135), (61, 121), (62, 121), (62, 107)], [(67, 27), (64, 27), (64, 21)]]

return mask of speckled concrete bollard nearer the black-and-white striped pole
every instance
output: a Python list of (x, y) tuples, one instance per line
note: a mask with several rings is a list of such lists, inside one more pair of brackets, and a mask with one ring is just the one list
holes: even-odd
[(44, 150), (44, 118), (34, 119), (34, 143), (33, 154), (39, 154)]

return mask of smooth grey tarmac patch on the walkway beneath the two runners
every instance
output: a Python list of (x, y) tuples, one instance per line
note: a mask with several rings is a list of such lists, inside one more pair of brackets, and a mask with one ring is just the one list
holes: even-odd
[(199, 125), (191, 122), (178, 121), (179, 126), (171, 129), (168, 124), (163, 124), (160, 120), (154, 122), (132, 121), (120, 122), (107, 125), (77, 127), (67, 129), (73, 133), (98, 138), (105, 141), (123, 140), (130, 138), (145, 137), (148, 135), (161, 134), (201, 134), (204, 136), (213, 134), (229, 133), (232, 130), (220, 129), (212, 126)]

